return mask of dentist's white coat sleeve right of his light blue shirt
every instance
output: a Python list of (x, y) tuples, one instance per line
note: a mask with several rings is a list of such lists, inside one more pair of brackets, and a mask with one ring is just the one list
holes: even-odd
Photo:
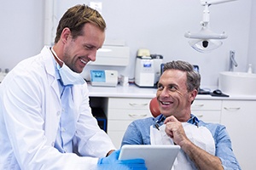
[[(79, 120), (76, 133), (79, 154), (82, 156), (104, 157), (109, 150), (115, 150), (115, 147), (108, 134), (98, 126), (96, 118), (92, 116), (87, 85), (85, 84), (82, 89), (83, 99), (81, 99), (81, 104), (79, 105)], [(79, 94), (81, 96), (81, 91)]]

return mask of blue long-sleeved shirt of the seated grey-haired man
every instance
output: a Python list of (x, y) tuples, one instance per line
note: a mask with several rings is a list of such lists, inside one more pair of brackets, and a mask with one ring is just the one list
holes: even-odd
[[(150, 126), (154, 125), (160, 116), (148, 117), (131, 122), (125, 132), (122, 145), (124, 144), (150, 144)], [(188, 121), (196, 126), (207, 127), (212, 133), (215, 142), (215, 156), (222, 161), (224, 169), (241, 169), (236, 156), (231, 147), (230, 136), (223, 125), (217, 123), (206, 123), (198, 120), (196, 116), (191, 114)], [(159, 123), (163, 124), (163, 121)]]

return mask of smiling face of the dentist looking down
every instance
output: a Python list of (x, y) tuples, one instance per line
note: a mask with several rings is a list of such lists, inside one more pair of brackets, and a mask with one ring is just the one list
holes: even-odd
[[(67, 31), (70, 31), (68, 28)], [(73, 39), (70, 34), (64, 46), (63, 61), (74, 72), (82, 72), (89, 61), (96, 60), (96, 51), (102, 48), (105, 32), (87, 23), (83, 28), (84, 35)]]

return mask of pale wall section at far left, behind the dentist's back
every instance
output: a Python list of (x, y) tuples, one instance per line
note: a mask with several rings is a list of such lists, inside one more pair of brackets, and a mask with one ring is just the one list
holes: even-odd
[(44, 1), (0, 3), (0, 68), (12, 69), (44, 47)]

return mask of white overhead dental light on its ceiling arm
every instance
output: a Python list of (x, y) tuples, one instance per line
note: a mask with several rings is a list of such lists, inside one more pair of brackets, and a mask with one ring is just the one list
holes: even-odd
[(230, 1), (236, 0), (201, 0), (201, 5), (204, 6), (203, 20), (201, 21), (201, 31), (199, 31), (198, 33), (191, 33), (190, 31), (188, 31), (184, 35), (187, 38), (193, 39), (189, 41), (189, 45), (196, 51), (199, 51), (201, 53), (210, 52), (213, 49), (216, 49), (222, 45), (220, 39), (225, 39), (228, 37), (224, 31), (220, 34), (217, 34), (209, 29), (209, 6), (218, 3), (227, 3)]

